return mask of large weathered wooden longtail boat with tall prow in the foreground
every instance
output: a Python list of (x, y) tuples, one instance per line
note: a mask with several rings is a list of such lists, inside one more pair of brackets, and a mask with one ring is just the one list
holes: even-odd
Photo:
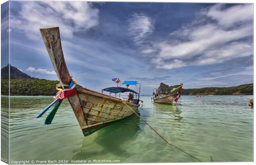
[[(40, 28), (40, 32), (43, 37), (47, 52), (52, 61), (52, 65), (55, 68), (57, 76), (60, 81), (60, 85), (64, 89), (68, 87), (71, 83), (71, 76), (66, 67), (64, 60), (64, 55), (62, 52), (61, 39), (59, 34), (59, 27), (54, 28)], [(100, 128), (106, 126), (108, 123), (126, 118), (133, 114), (130, 108), (134, 111), (140, 106), (140, 93), (138, 99), (134, 99), (133, 102), (126, 101), (123, 104), (123, 100), (116, 97), (111, 97), (110, 95), (102, 94), (92, 90), (85, 89), (80, 85), (70, 96), (67, 97), (73, 112), (76, 115), (78, 123), (83, 131), (84, 136), (88, 136), (93, 132), (99, 130)], [(116, 89), (119, 87), (115, 87)], [(108, 92), (135, 92), (124, 88), (128, 91), (123, 91), (120, 89), (109, 90), (109, 88), (104, 89)]]

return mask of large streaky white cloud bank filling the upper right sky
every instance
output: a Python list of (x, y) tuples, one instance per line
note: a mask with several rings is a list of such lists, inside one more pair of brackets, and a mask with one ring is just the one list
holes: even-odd
[(218, 64), (253, 54), (253, 5), (217, 4), (200, 14), (168, 39), (152, 43), (159, 50), (151, 59), (156, 68)]

